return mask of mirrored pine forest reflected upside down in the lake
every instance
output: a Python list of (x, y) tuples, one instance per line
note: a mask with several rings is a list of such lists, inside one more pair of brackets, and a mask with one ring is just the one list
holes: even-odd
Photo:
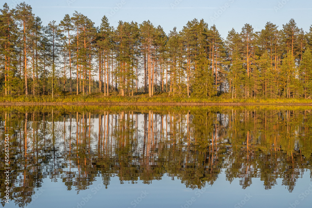
[[(119, 109), (120, 108), (120, 109)], [(42, 179), (68, 190), (96, 177), (151, 183), (164, 175), (189, 188), (212, 185), (223, 170), (242, 188), (277, 178), (291, 192), (311, 169), (312, 107), (0, 108), (1, 143), (11, 135), (11, 197), (24, 207)], [(1, 151), (3, 164), (4, 152)], [(3, 167), (1, 167), (3, 170)], [(1, 171), (1, 194), (4, 190)], [(3, 201), (3, 195), (1, 195)]]

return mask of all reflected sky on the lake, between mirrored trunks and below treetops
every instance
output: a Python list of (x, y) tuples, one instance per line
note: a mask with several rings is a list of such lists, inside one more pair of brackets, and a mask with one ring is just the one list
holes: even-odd
[[(85, 117), (86, 125), (89, 125), (89, 113), (86, 114)], [(117, 114), (118, 115), (118, 114)], [(170, 113), (171, 116), (173, 116), (173, 113)], [(69, 115), (66, 115), (66, 118)], [(107, 116), (107, 114), (106, 114)], [(159, 120), (160, 116), (159, 114), (154, 114), (154, 121), (156, 120), (157, 116), (157, 131), (159, 133)], [(228, 122), (230, 119), (231, 114), (216, 114), (216, 119), (222, 126), (228, 127)], [(243, 114), (241, 114), (243, 116)], [(71, 139), (72, 143), (76, 143), (76, 114), (72, 113), (72, 133), (71, 133)], [(99, 133), (99, 118), (98, 115), (91, 114), (91, 131), (90, 131), (90, 139), (91, 149), (97, 149), (97, 140), (98, 140), (98, 133)], [(115, 114), (110, 114), (110, 131), (112, 130), (111, 124), (113, 123), (113, 130), (115, 129), (115, 119), (118, 119), (118, 116), (115, 117)], [(124, 118), (128, 118), (127, 114), (124, 114)], [(166, 122), (165, 122), (166, 116), (164, 115), (164, 129), (166, 129)], [(183, 125), (181, 125), (181, 129), (185, 131), (186, 127), (186, 119), (187, 115), (182, 114), (181, 117), (178, 115), (175, 117), (177, 120), (173, 120), (173, 123), (176, 124), (176, 128), (178, 128), (178, 123), (182, 121)], [(180, 119), (183, 118), (183, 119)], [(192, 118), (192, 116), (190, 117)], [(82, 115), (81, 115), (82, 119)], [(132, 114), (130, 112), (129, 119), (132, 119)], [(134, 119), (135, 119), (135, 112), (134, 112)], [(169, 115), (167, 115), (167, 122), (169, 122)], [(64, 157), (59, 157), (59, 154), (64, 151), (64, 120), (63, 117), (55, 116), (54, 117), (54, 128), (55, 128), (55, 147), (57, 150), (56, 154), (56, 167), (58, 167), (60, 164), (62, 164), (62, 161)], [(105, 119), (107, 122), (107, 117)], [(36, 123), (36, 122), (35, 122)], [(34, 132), (32, 127), (36, 126), (35, 123), (31, 121), (31, 117), (28, 117), (28, 124), (27, 124), (27, 141), (29, 145), (29, 152), (32, 152), (32, 149), (30, 148), (32, 146), (33, 142), (33, 135)], [(80, 122), (78, 122), (80, 124)], [(117, 122), (118, 123), (118, 122)], [(190, 120), (190, 124), (192, 123), (192, 119)], [(65, 120), (65, 139), (66, 139), (66, 151), (68, 151), (68, 142), (69, 142), (69, 124), (70, 119)], [(22, 124), (23, 125), (23, 124)], [(41, 123), (42, 125), (42, 123)], [(82, 122), (81, 122), (82, 125)], [(102, 125), (106, 127), (106, 123), (104, 123), (104, 115), (102, 119)], [(117, 124), (118, 125), (118, 124)], [(135, 126), (135, 125), (134, 125)], [(46, 140), (51, 140), (51, 117), (49, 117), (49, 121), (47, 122), (46, 131)], [(82, 128), (82, 126), (81, 126)], [(38, 133), (42, 133), (42, 126), (39, 127)], [(138, 152), (141, 152), (142, 150), (142, 143), (143, 143), (143, 133), (144, 133), (144, 115), (138, 114), (138, 129), (139, 129), (139, 135), (138, 135)], [(168, 125), (168, 131), (170, 129), (170, 126)], [(23, 130), (22, 130), (23, 131)], [(296, 132), (296, 130), (294, 130)], [(81, 129), (81, 133), (82, 133)], [(104, 132), (104, 129), (103, 129)], [(298, 132), (297, 132), (298, 133)], [(79, 133), (78, 133), (79, 134)], [(111, 135), (111, 134), (110, 134)], [(88, 131), (87, 131), (87, 137), (88, 137)], [(81, 135), (82, 138), (82, 135)], [(217, 138), (219, 136), (217, 135)], [(220, 140), (218, 142), (222, 142), (222, 139), (229, 139), (227, 136), (224, 136), (224, 138), (220, 137)], [(170, 136), (168, 137), (170, 139)], [(259, 139), (260, 140), (260, 139)], [(39, 143), (42, 143), (44, 140), (40, 140)], [(223, 140), (226, 142), (227, 140)], [(109, 141), (110, 142), (110, 141)], [(114, 154), (114, 148), (116, 148), (115, 145), (115, 139), (113, 139), (112, 148), (113, 148), (113, 154)], [(177, 141), (179, 142), (179, 141)], [(184, 143), (185, 146), (187, 146), (186, 143)], [(43, 147), (42, 145), (38, 145), (39, 147)], [(75, 148), (72, 148), (72, 151)], [(42, 151), (42, 149), (40, 150)], [(72, 155), (74, 157), (74, 155)], [(72, 157), (72, 159), (74, 159)], [(156, 158), (156, 157), (155, 157)], [(68, 162), (68, 158), (66, 158)], [(50, 166), (55, 165), (52, 163), (53, 161), (50, 161)], [(71, 161), (73, 162), (73, 160)], [(73, 168), (74, 167), (74, 168)], [(254, 169), (255, 167), (253, 165), (250, 166), (250, 169)], [(49, 169), (47, 169), (49, 171)], [(52, 170), (50, 170), (52, 171)], [(247, 187), (246, 189), (242, 189), (242, 186), (240, 185), (240, 178), (234, 178), (232, 183), (230, 184), (229, 181), (226, 180), (225, 175), (225, 169), (221, 170), (221, 173), (218, 174), (218, 179), (214, 182), (213, 186), (206, 185), (207, 190), (204, 191), (201, 195), (198, 195), (198, 190), (192, 190), (190, 188), (186, 188), (186, 185), (181, 182), (180, 179), (174, 178), (172, 180), (171, 177), (168, 177), (167, 174), (164, 174), (162, 177), (162, 180), (153, 180), (151, 184), (143, 184), (142, 181), (138, 180), (135, 184), (129, 183), (129, 181), (123, 181), (124, 184), (120, 184), (119, 177), (112, 177), (110, 180), (110, 184), (108, 185), (108, 189), (105, 189), (105, 186), (102, 186), (102, 188), (97, 191), (95, 194), (95, 186), (100, 186), (103, 184), (102, 178), (97, 177), (96, 181), (93, 182), (92, 185), (89, 186), (87, 190), (83, 190), (79, 192), (79, 195), (77, 195), (77, 191), (75, 190), (75, 186), (72, 186), (71, 191), (67, 191), (67, 186), (65, 186), (64, 182), (62, 182), (62, 177), (64, 176), (65, 172), (69, 171), (69, 167), (63, 168), (63, 173), (60, 174), (60, 178), (57, 178), (57, 182), (53, 182), (49, 177), (51, 175), (47, 175), (47, 178), (43, 179), (42, 183), (42, 190), (43, 193), (41, 195), (32, 196), (33, 203), (30, 206), (27, 207), (34, 207), (34, 208), (41, 208), (41, 207), (68, 207), (68, 208), (79, 208), (80, 206), (77, 205), (77, 203), (81, 202), (83, 198), (87, 197), (89, 194), (92, 196), (92, 198), (89, 199), (89, 201), (80, 208), (84, 207), (124, 207), (124, 208), (132, 208), (134, 207), (134, 203), (131, 204), (132, 201), (137, 199), (141, 194), (142, 191), (146, 191), (149, 194), (142, 199), (142, 201), (136, 206), (136, 208), (140, 207), (181, 207), (184, 206), (187, 201), (189, 202), (192, 197), (195, 197), (195, 201), (192, 202), (193, 207), (235, 207), (235, 205), (242, 200), (245, 199), (246, 195), (252, 196), (249, 201), (246, 202), (246, 205), (243, 207), (290, 207), (290, 204), (294, 204), (296, 200), (300, 203), (297, 207), (311, 207), (312, 198), (310, 197), (312, 195), (307, 196), (303, 198), (303, 201), (301, 201), (302, 198), (299, 198), (298, 196), (302, 193), (308, 190), (310, 184), (312, 186), (312, 182), (310, 181), (310, 174), (309, 172), (305, 172), (303, 174), (302, 178), (298, 178), (296, 181), (296, 185), (294, 187), (294, 190), (292, 193), (289, 193), (287, 190), (287, 186), (282, 185), (282, 179), (277, 178), (276, 182), (277, 185), (273, 186), (270, 190), (265, 190), (263, 185), (264, 182), (261, 181), (260, 175), (256, 175), (255, 177), (252, 177), (252, 185)], [(77, 168), (75, 165), (71, 166), (72, 172), (77, 172)], [(301, 170), (298, 170), (301, 171)], [(255, 171), (257, 172), (257, 171)], [(257, 172), (258, 173), (258, 172)], [(21, 172), (22, 174), (22, 172)], [(281, 173), (282, 174), (282, 173)], [(20, 178), (22, 179), (22, 178)], [(40, 191), (36, 191), (36, 193), (40, 193)], [(309, 192), (310, 193), (310, 192)], [(12, 193), (11, 193), (12, 194)], [(200, 196), (200, 197), (197, 197)], [(302, 196), (302, 195), (301, 195)], [(36, 198), (35, 198), (36, 197)], [(77, 207), (78, 206), (78, 207)], [(15, 203), (11, 201), (10, 204), (6, 204), (5, 207), (16, 207)], [(187, 206), (186, 206), (187, 207)], [(239, 207), (239, 206), (236, 206)]]

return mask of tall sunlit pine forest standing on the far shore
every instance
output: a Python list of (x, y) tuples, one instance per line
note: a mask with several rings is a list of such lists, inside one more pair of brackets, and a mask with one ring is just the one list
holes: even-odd
[(0, 94), (44, 96), (61, 92), (109, 96), (168, 93), (169, 97), (229, 99), (312, 96), (312, 26), (294, 19), (278, 28), (245, 24), (226, 39), (215, 25), (193, 19), (181, 31), (103, 17), (66, 14), (43, 26), (25, 2), (0, 10)]

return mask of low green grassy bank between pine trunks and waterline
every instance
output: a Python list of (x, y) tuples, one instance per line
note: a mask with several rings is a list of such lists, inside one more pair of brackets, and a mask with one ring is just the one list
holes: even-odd
[(157, 93), (153, 97), (149, 97), (147, 93), (135, 93), (134, 96), (120, 96), (118, 94), (110, 94), (105, 96), (103, 93), (95, 93), (91, 95), (71, 95), (68, 92), (57, 94), (53, 99), (51, 95), (44, 96), (1, 96), (0, 103), (185, 103), (185, 104), (211, 104), (211, 103), (233, 103), (233, 104), (312, 104), (310, 99), (232, 99), (226, 96), (213, 98), (180, 98), (170, 96), (168, 93)]

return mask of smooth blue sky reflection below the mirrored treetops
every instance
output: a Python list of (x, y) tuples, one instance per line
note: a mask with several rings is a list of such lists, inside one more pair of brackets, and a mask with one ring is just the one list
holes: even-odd
[[(224, 170), (219, 175), (219, 180), (215, 181), (213, 186), (206, 185), (206, 191), (199, 194), (198, 190), (192, 190), (185, 187), (180, 180), (175, 178), (173, 181), (171, 177), (163, 176), (160, 181), (152, 181), (152, 184), (143, 184), (138, 181), (136, 184), (124, 181), (120, 184), (118, 177), (111, 178), (108, 189), (105, 186), (96, 191), (95, 186), (102, 184), (100, 177), (93, 182), (89, 189), (80, 191), (67, 191), (67, 187), (62, 183), (61, 179), (57, 182), (51, 182), (51, 179), (43, 179), (42, 190), (43, 193), (33, 202), (29, 208), (55, 208), (68, 207), (77, 208), (77, 203), (81, 202), (89, 194), (92, 196), (90, 200), (82, 206), (85, 207), (116, 207), (127, 208), (134, 207), (131, 202), (141, 196), (142, 191), (146, 191), (148, 195), (136, 206), (151, 207), (151, 208), (180, 208), (195, 197), (195, 201), (190, 207), (234, 207), (237, 203), (244, 200), (246, 195), (252, 196), (243, 207), (263, 208), (263, 207), (289, 207), (290, 204), (295, 203), (296, 200), (300, 202), (298, 207), (311, 207), (312, 197), (307, 196), (301, 201), (298, 198), (301, 192), (305, 192), (309, 188), (310, 182), (309, 174), (304, 174), (303, 178), (296, 182), (293, 193), (289, 193), (285, 186), (281, 186), (282, 179), (277, 179), (277, 186), (271, 190), (263, 188), (263, 181), (259, 178), (252, 179), (252, 185), (246, 189), (242, 189), (239, 185), (239, 179), (236, 178), (230, 184), (226, 181)], [(312, 183), (311, 183), (312, 184)], [(74, 188), (74, 186), (73, 186)], [(36, 192), (38, 193), (38, 191)], [(312, 194), (312, 192), (311, 192)], [(89, 195), (89, 196), (90, 196)], [(199, 197), (198, 197), (199, 196)], [(5, 205), (4, 207), (16, 207), (14, 202)], [(78, 207), (79, 208), (79, 207)]]

